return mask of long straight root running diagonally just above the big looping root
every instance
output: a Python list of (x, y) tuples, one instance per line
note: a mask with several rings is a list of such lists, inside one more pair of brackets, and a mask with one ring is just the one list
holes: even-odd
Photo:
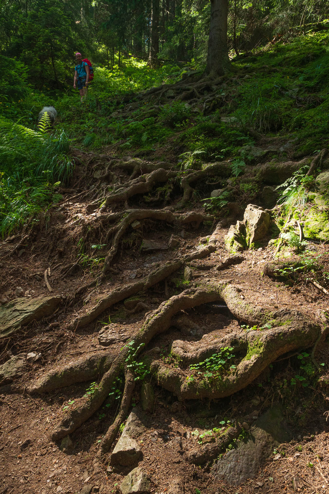
[(194, 259), (203, 259), (216, 250), (215, 245), (208, 244), (207, 246), (200, 246), (199, 249), (194, 250), (189, 254), (180, 256), (178, 259), (167, 261), (162, 266), (155, 268), (145, 278), (140, 281), (126, 285), (123, 288), (117, 288), (111, 290), (108, 295), (102, 298), (97, 305), (91, 308), (87, 314), (78, 316), (68, 326), (68, 329), (74, 330), (87, 326), (87, 324), (94, 321), (102, 312), (109, 309), (112, 305), (124, 300), (126, 298), (135, 295), (136, 293), (147, 290), (152, 286), (165, 280), (168, 276), (172, 275), (179, 269), (181, 269), (186, 262), (190, 262)]

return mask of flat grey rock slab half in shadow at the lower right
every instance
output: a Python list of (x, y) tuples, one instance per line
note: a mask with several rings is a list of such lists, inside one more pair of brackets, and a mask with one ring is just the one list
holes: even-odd
[(217, 480), (224, 479), (231, 485), (240, 485), (247, 479), (255, 478), (259, 467), (272, 454), (273, 447), (290, 439), (281, 410), (274, 407), (254, 422), (249, 437), (237, 449), (229, 451), (213, 466), (213, 475)]

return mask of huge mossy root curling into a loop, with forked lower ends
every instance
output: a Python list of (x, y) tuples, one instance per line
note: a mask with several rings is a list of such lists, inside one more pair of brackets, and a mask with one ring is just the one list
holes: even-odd
[[(221, 378), (214, 378), (211, 382), (203, 378), (188, 384), (186, 380), (186, 370), (173, 369), (165, 365), (162, 361), (151, 361), (150, 370), (159, 384), (165, 389), (174, 392), (179, 399), (197, 399), (202, 397), (219, 398), (231, 395), (244, 388), (252, 382), (271, 362), (286, 352), (299, 348), (311, 346), (319, 335), (319, 327), (311, 324), (302, 314), (292, 310), (276, 310), (269, 312), (262, 307), (255, 307), (253, 304), (242, 300), (240, 289), (232, 285), (212, 283), (198, 288), (191, 288), (183, 291), (179, 295), (171, 297), (163, 302), (156, 310), (151, 312), (137, 331), (132, 340), (137, 349), (141, 344), (147, 345), (154, 336), (168, 330), (172, 323), (172, 318), (181, 311), (192, 309), (200, 304), (224, 301), (231, 313), (239, 320), (248, 324), (263, 325), (268, 323), (270, 329), (264, 328), (258, 331), (231, 333), (218, 344), (210, 349), (194, 352), (194, 354), (184, 356), (184, 365), (189, 362), (194, 363), (196, 359), (203, 359), (211, 355), (216, 350), (228, 345), (232, 345), (234, 350), (241, 354), (242, 360), (237, 364), (236, 369), (226, 371)], [(143, 346), (143, 345), (142, 345)], [(179, 345), (174, 352), (179, 353)], [(87, 420), (102, 405), (108, 397), (114, 380), (125, 370), (125, 361), (128, 358), (129, 347), (122, 348), (120, 353), (113, 360), (111, 368), (107, 371), (97, 389), (89, 398), (81, 399), (77, 408), (69, 411), (67, 415), (52, 431), (52, 439), (58, 441), (67, 434), (72, 433), (85, 420)], [(127, 403), (130, 400), (132, 387), (127, 382), (126, 391), (123, 393), (121, 410), (125, 413)], [(128, 396), (129, 395), (129, 396)], [(128, 398), (127, 398), (128, 396)], [(115, 437), (119, 419), (115, 421), (115, 426), (104, 440), (102, 452), (110, 447), (110, 443)], [(108, 439), (110, 438), (110, 439)]]

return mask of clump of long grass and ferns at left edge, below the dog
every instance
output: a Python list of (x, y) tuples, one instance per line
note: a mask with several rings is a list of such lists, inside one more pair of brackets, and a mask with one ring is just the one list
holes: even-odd
[(47, 118), (36, 131), (0, 118), (2, 238), (58, 201), (54, 187), (72, 175), (68, 137), (63, 130), (49, 134)]

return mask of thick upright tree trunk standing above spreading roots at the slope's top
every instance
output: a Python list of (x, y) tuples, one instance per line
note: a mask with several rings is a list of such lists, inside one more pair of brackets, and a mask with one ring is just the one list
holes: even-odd
[(228, 0), (211, 0), (210, 30), (206, 73), (222, 76), (229, 70), (227, 49)]

